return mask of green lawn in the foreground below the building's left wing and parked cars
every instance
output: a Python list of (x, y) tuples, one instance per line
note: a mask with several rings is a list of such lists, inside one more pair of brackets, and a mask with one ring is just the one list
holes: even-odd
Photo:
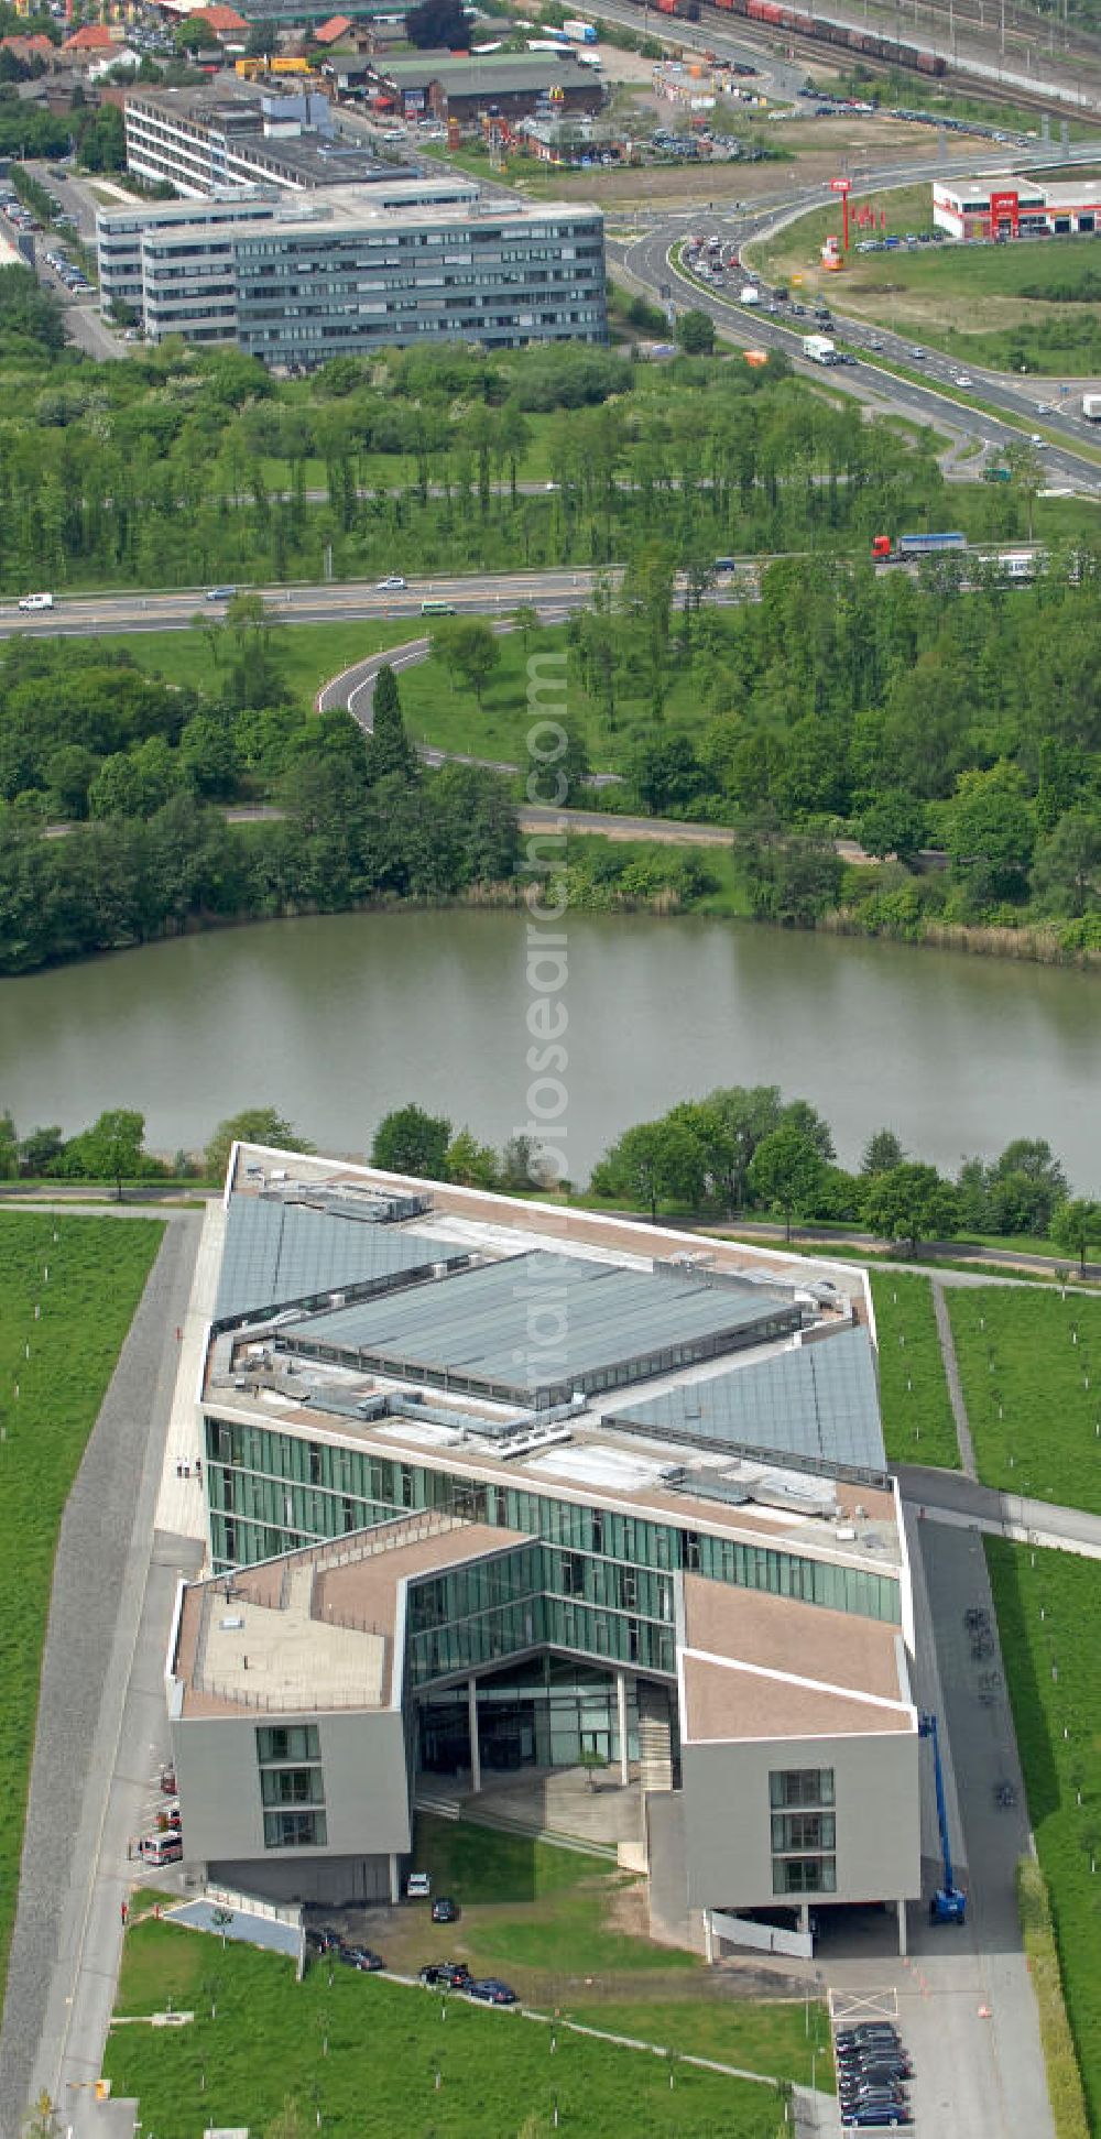
[[(774, 2139), (780, 2105), (772, 2088), (558, 2030), (515, 2013), (477, 2011), (336, 1968), (295, 1983), (291, 1961), (227, 1946), (171, 1923), (137, 1923), (126, 1936), (120, 2013), (162, 2011), (167, 1998), (195, 2011), (180, 2030), (113, 2028), (105, 2073), (115, 2096), (137, 2096), (143, 2130), (195, 2139), (197, 2130), (263, 2133), (293, 2098), (304, 2122), (327, 2133), (393, 2139), (505, 2139), (552, 2128), (590, 2139), (725, 2133)], [(216, 2017), (212, 2017), (216, 2006)]]

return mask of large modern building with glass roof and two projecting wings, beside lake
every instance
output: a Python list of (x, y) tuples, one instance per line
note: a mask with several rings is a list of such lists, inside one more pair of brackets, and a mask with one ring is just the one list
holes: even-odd
[[(396, 1895), (430, 1778), (599, 1754), (684, 1914), (921, 1889), (857, 1273), (237, 1153), (169, 1656), (188, 1857)], [(836, 1290), (840, 1286), (840, 1290)]]

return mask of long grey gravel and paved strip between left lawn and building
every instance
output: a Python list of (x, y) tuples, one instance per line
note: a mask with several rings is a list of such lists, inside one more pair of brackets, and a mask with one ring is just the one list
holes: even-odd
[[(53, 1970), (83, 1887), (81, 1827), (98, 1829), (107, 1775), (100, 1715), (133, 1649), (150, 1566), (152, 1508), (175, 1382), (165, 1333), (184, 1322), (199, 1215), (165, 1230), (68, 1495), (53, 1570), (30, 1803), (0, 2030), (0, 2135), (15, 2139), (36, 2071)], [(126, 1673), (122, 1673), (122, 1686)]]

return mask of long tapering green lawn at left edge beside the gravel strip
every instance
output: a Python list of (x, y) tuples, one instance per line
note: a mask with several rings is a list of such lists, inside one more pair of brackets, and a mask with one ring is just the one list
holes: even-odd
[[(38, 1666), (68, 1489), (162, 1226), (0, 1213), (0, 1989), (6, 1974)], [(43, 1277), (49, 1271), (49, 1279)], [(34, 1320), (34, 1309), (41, 1318)], [(30, 1345), (30, 1358), (26, 1356)], [(19, 1388), (15, 1399), (13, 1390)]]

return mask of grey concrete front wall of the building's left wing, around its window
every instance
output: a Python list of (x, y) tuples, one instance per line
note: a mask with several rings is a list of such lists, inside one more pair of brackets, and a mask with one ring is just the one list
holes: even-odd
[[(265, 1848), (257, 1728), (282, 1722), (316, 1722), (327, 1827), (323, 1850)], [(259, 1859), (272, 1865), (408, 1850), (404, 1726), (393, 1709), (312, 1718), (259, 1711), (177, 1718), (171, 1739), (188, 1861), (224, 1865)]]

